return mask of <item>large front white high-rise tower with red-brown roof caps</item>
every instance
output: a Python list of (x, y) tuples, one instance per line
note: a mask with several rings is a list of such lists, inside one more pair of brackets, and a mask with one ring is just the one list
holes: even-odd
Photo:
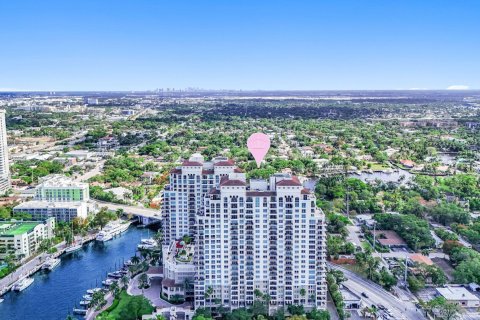
[(248, 307), (260, 290), (271, 297), (270, 311), (325, 309), (325, 218), (315, 200), (289, 174), (250, 184), (221, 177), (197, 214), (195, 307)]

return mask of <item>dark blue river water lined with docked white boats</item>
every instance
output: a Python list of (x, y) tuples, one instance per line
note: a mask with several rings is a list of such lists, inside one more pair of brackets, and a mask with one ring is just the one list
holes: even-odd
[[(75, 313), (79, 319), (86, 314), (88, 297), (101, 290), (102, 281), (112, 279), (137, 249), (148, 229), (129, 228), (121, 237), (108, 242), (91, 241), (77, 252), (64, 254), (61, 263), (51, 272), (37, 272), (22, 292), (10, 291), (2, 296), (2, 319), (63, 320)], [(38, 271), (38, 270), (37, 270)], [(105, 287), (104, 287), (105, 288)]]

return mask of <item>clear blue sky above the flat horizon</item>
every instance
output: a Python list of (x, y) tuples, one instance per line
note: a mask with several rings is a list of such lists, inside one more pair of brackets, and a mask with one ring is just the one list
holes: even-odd
[(0, 90), (480, 89), (480, 1), (0, 2)]

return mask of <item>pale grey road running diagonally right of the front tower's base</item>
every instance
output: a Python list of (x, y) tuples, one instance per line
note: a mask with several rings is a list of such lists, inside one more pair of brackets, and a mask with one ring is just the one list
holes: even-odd
[(345, 277), (348, 278), (348, 280), (343, 282), (343, 285), (352, 292), (359, 296), (361, 296), (362, 292), (365, 292), (368, 298), (362, 297), (362, 300), (367, 305), (384, 305), (391, 311), (394, 319), (425, 319), (421, 311), (416, 311), (416, 307), (412, 302), (400, 300), (391, 293), (387, 292), (378, 284), (364, 279), (356, 273), (345, 268), (332, 263), (327, 263), (327, 265), (329, 268), (340, 270), (345, 274)]

